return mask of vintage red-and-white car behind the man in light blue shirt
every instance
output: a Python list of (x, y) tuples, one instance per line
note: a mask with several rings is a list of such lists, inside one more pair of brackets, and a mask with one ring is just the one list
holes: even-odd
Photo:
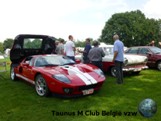
[[(116, 69), (114, 66), (113, 60), (113, 45), (100, 45), (105, 52), (105, 57), (103, 57), (103, 71), (104, 72), (110, 72), (112, 76), (116, 76)], [(76, 55), (77, 59), (81, 60), (81, 55)], [(147, 63), (147, 57), (146, 56), (140, 56), (140, 55), (128, 55), (124, 54), (124, 72), (132, 72), (139, 74), (140, 71), (147, 69), (146, 66)]]

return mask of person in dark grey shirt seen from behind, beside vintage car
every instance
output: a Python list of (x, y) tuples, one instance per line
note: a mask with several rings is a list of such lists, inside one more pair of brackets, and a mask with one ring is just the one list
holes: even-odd
[(105, 56), (104, 51), (102, 50), (102, 48), (99, 48), (99, 42), (98, 41), (94, 41), (93, 42), (93, 48), (90, 49), (89, 53), (88, 53), (88, 58), (90, 60), (90, 63), (97, 66), (98, 68), (100, 68), (101, 70), (102, 68), (102, 57)]

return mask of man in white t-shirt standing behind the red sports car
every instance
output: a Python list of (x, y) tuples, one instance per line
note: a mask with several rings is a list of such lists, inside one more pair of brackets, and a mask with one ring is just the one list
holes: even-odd
[(73, 36), (68, 36), (68, 41), (64, 45), (64, 54), (75, 61), (75, 44), (73, 42)]

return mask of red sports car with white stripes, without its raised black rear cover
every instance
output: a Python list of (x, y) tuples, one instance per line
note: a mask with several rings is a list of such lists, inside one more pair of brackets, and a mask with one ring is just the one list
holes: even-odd
[(38, 95), (88, 95), (102, 86), (105, 76), (93, 65), (75, 64), (61, 55), (35, 55), (11, 68), (11, 79), (21, 78), (35, 85)]

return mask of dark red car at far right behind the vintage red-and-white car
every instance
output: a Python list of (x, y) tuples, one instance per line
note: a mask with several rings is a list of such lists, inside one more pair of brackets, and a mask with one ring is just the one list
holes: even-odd
[(144, 55), (147, 56), (149, 67), (155, 67), (161, 71), (161, 49), (154, 46), (138, 46), (130, 47), (126, 54)]

